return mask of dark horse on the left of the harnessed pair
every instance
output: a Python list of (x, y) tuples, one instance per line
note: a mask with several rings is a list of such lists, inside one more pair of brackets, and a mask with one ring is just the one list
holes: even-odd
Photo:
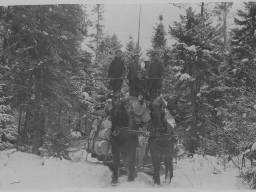
[(112, 100), (113, 109), (110, 111), (112, 128), (111, 128), (111, 145), (113, 155), (113, 177), (111, 183), (116, 185), (118, 181), (120, 155), (122, 158), (128, 158), (128, 181), (134, 181), (135, 177), (135, 154), (138, 144), (138, 136), (130, 134), (122, 134), (121, 127), (130, 127), (138, 130), (138, 126), (134, 124), (134, 118), (128, 112), (126, 102)]

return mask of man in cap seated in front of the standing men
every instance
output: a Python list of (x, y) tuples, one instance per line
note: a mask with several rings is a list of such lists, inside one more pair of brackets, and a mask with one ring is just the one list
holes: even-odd
[(143, 99), (148, 100), (148, 90), (148, 82), (143, 79), (143, 72), (137, 71), (131, 84), (132, 96), (138, 97), (143, 102)]

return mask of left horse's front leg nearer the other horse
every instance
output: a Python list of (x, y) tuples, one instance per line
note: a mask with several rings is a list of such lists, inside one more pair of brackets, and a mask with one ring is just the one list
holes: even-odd
[(136, 145), (133, 143), (129, 146), (128, 150), (128, 182), (134, 181), (135, 177), (135, 155), (136, 155)]

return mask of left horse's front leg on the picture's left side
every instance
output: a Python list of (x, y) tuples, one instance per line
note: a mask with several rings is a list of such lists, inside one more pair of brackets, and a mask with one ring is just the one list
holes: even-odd
[(112, 154), (113, 154), (113, 177), (112, 177), (112, 184), (119, 183), (118, 181), (118, 174), (119, 174), (119, 163), (120, 163), (120, 152), (119, 147), (112, 145)]

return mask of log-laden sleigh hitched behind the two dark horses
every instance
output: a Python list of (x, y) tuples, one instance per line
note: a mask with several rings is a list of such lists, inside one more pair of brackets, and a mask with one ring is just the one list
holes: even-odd
[[(148, 127), (148, 121), (150, 119), (150, 111), (146, 108), (146, 105), (141, 105), (140, 101), (137, 98), (130, 98), (131, 100), (131, 110), (134, 111), (135, 119), (139, 125), (139, 131), (129, 130), (128, 127), (121, 128), (123, 130), (122, 134), (135, 134), (139, 137), (139, 144), (136, 149), (136, 158), (135, 165), (136, 171), (138, 172), (153, 172), (151, 154), (148, 150), (148, 137), (145, 137), (145, 133)], [(155, 101), (157, 102), (157, 101)], [(167, 103), (166, 103), (167, 105)], [(111, 110), (111, 103), (107, 106), (106, 111)], [(168, 110), (165, 110), (166, 121), (169, 125), (174, 128), (175, 120), (173, 116), (169, 113)], [(102, 161), (105, 165), (112, 167), (113, 157), (111, 154), (111, 143), (110, 143), (110, 134), (111, 134), (111, 120), (109, 116), (105, 116), (102, 119), (95, 119), (93, 122), (93, 129), (90, 132), (90, 137), (87, 142), (87, 152), (91, 153), (91, 157), (97, 158), (99, 161)], [(162, 134), (159, 136), (161, 138), (174, 138), (178, 140), (180, 137), (183, 137), (181, 134), (171, 135), (171, 134)], [(182, 158), (186, 154), (186, 148), (182, 144), (177, 144), (175, 146), (175, 162), (177, 163), (177, 158)], [(162, 162), (163, 163), (163, 162)], [(126, 170), (127, 162), (122, 160), (119, 165), (120, 170)]]

